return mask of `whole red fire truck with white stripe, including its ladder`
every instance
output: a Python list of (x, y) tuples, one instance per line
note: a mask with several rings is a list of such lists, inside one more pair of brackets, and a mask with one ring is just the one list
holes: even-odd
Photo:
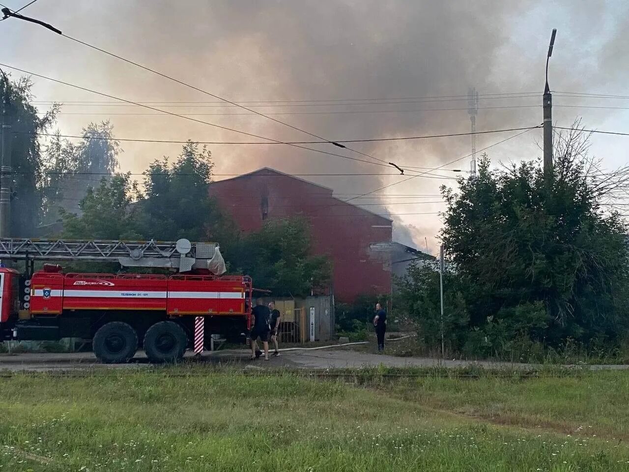
[[(203, 341), (242, 340), (250, 327), (252, 280), (223, 275), (218, 244), (0, 239), (0, 260), (26, 267), (0, 267), (0, 342), (71, 337), (91, 341), (105, 363), (128, 362), (140, 347), (152, 362), (174, 362), (199, 342), (199, 322)], [(60, 261), (167, 270), (64, 273)]]

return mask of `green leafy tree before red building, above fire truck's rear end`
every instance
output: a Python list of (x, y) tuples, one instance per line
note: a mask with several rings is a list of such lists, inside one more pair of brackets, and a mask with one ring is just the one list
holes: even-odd
[(273, 295), (308, 296), (330, 283), (328, 258), (310, 254), (310, 228), (304, 218), (267, 220), (259, 231), (226, 243), (230, 267), (249, 274), (256, 288)]

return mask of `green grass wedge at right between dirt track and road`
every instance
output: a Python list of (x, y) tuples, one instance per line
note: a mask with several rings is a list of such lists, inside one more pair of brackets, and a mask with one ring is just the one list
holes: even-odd
[(629, 372), (548, 368), (521, 379), (487, 373), (477, 379), (425, 376), (387, 386), (396, 398), (494, 424), (629, 441)]

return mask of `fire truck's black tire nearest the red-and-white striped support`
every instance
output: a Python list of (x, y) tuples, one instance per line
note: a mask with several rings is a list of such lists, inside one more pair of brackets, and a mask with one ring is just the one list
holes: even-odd
[(186, 332), (172, 321), (155, 323), (144, 336), (144, 351), (151, 362), (180, 361), (187, 344)]

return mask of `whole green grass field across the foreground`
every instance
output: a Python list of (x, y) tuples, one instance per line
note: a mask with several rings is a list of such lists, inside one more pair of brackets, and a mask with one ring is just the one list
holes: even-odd
[(0, 391), (0, 471), (629, 470), (620, 371), (355, 385), (169, 368), (15, 374)]

